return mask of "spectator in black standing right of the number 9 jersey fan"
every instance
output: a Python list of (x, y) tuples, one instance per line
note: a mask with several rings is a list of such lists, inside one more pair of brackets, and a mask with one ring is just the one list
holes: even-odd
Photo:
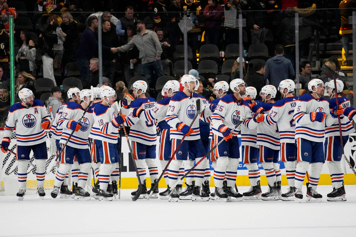
[(168, 23), (166, 31), (169, 33), (169, 41), (173, 48), (177, 46), (182, 34), (178, 26), (179, 20), (182, 19), (182, 13), (180, 9), (180, 0), (172, 0), (171, 5), (168, 7)]

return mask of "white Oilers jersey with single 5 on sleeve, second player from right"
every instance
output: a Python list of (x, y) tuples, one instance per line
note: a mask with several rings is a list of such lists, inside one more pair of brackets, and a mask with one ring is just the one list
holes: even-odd
[[(310, 119), (312, 112), (324, 112), (326, 118), (321, 123), (312, 122)], [(304, 138), (316, 142), (324, 141), (325, 125), (330, 126), (335, 122), (330, 114), (329, 102), (324, 97), (315, 99), (310, 94), (299, 97), (293, 118), (295, 121), (295, 139)]]

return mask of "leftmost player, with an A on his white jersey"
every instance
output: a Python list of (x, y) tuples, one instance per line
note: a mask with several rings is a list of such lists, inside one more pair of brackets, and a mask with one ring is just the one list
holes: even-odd
[(17, 141), (17, 176), (19, 192), (16, 196), (23, 200), (26, 193), (27, 165), (30, 161), (30, 152), (33, 151), (36, 163), (37, 193), (41, 199), (45, 196), (43, 184), (46, 173), (46, 132), (52, 123), (52, 117), (42, 101), (34, 99), (30, 89), (23, 88), (19, 91), (21, 102), (12, 105), (9, 109), (4, 127), (4, 138), (1, 142), (1, 151), (7, 152), (10, 145), (10, 136), (16, 128)]

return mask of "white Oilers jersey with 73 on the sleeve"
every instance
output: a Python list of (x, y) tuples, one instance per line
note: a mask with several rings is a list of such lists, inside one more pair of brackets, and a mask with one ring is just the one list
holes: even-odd
[(209, 108), (208, 101), (198, 95), (197, 93), (192, 93), (190, 96), (185, 95), (183, 91), (177, 92), (169, 102), (168, 111), (166, 115), (166, 121), (171, 126), (169, 137), (171, 139), (182, 139), (183, 133), (177, 130), (177, 124), (183, 122), (189, 126), (197, 113), (197, 100), (200, 100), (200, 115), (195, 119), (191, 128), (193, 133), (186, 136), (185, 140), (198, 140), (200, 139), (200, 129), (199, 129), (199, 116), (203, 122), (210, 123), (211, 111)]

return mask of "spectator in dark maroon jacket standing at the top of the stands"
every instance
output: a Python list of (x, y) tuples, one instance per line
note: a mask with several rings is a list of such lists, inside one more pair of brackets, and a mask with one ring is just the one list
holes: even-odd
[(205, 18), (204, 40), (206, 44), (218, 45), (220, 41), (221, 20), (224, 15), (224, 8), (218, 4), (218, 0), (208, 0), (208, 5), (204, 9)]

